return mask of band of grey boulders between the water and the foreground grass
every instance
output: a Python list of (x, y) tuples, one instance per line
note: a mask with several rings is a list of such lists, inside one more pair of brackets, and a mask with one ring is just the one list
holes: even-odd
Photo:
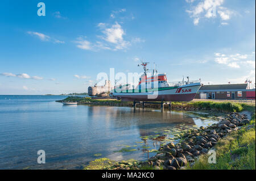
[(151, 157), (148, 162), (142, 162), (138, 167), (154, 167), (155, 169), (176, 170), (193, 165), (201, 154), (207, 154), (221, 138), (232, 131), (237, 131), (242, 125), (249, 123), (245, 114), (230, 113), (219, 123), (207, 128), (200, 127), (183, 134), (176, 145), (170, 142), (162, 146), (160, 153)]

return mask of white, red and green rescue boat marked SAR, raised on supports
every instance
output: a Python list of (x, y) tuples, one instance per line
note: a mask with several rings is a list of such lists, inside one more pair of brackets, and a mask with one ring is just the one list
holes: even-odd
[(129, 84), (115, 86), (110, 95), (122, 101), (188, 102), (195, 98), (196, 92), (202, 86), (200, 81), (189, 81), (189, 77), (187, 81), (183, 78), (180, 82), (168, 82), (166, 74), (158, 74), (155, 69), (152, 76), (147, 76), (148, 64), (148, 62), (141, 64), (144, 73), (139, 78), (137, 87), (134, 88)]

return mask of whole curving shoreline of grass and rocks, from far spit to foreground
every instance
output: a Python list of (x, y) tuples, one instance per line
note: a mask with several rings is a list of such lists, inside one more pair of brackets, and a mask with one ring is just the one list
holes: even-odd
[[(91, 99), (69, 97), (66, 100), (77, 102), (77, 104), (87, 104), (93, 106), (126, 106), (133, 107), (133, 102), (121, 102), (115, 99)], [(65, 99), (64, 99), (65, 100)], [(57, 100), (56, 102), (63, 102)], [(137, 107), (142, 107), (139, 104)], [(160, 108), (158, 104), (146, 104), (146, 108)], [(189, 102), (189, 103), (172, 103), (172, 110), (177, 111), (203, 111), (226, 113), (226, 116), (217, 124), (209, 127), (200, 127), (199, 129), (189, 129), (183, 135), (180, 135), (181, 141), (176, 145), (172, 142), (163, 145), (158, 154), (148, 159), (148, 162), (135, 161), (129, 159), (127, 161), (116, 162), (108, 158), (99, 158), (91, 161), (84, 169), (104, 169), (104, 170), (147, 170), (147, 169), (186, 169), (191, 167), (199, 160), (200, 155), (205, 155), (209, 150), (214, 149), (222, 138), (227, 137), (232, 132), (237, 132), (246, 124), (250, 123), (250, 116), (255, 113), (255, 105), (246, 103), (233, 102)], [(242, 113), (238, 113), (241, 112)], [(247, 111), (247, 112), (244, 112)], [(247, 115), (245, 115), (246, 113)], [(234, 116), (234, 117), (233, 117)], [(236, 120), (234, 120), (236, 118)], [(249, 118), (249, 119), (248, 119)], [(250, 129), (255, 128), (250, 125)]]

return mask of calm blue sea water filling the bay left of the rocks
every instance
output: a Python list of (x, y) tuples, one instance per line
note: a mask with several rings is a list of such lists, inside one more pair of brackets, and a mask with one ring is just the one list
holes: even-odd
[[(55, 102), (65, 97), (0, 95), (0, 169), (82, 169), (101, 157), (145, 160), (146, 149), (159, 149), (154, 138), (176, 141), (183, 129), (214, 123), (191, 112)], [(38, 150), (46, 151), (45, 164), (37, 163)]]

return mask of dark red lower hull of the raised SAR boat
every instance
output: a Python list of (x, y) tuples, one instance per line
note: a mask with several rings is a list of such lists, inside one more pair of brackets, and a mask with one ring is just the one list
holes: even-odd
[(158, 95), (155, 99), (148, 99), (147, 95), (130, 95), (118, 96), (122, 101), (191, 101), (195, 98), (196, 93), (193, 94), (172, 94), (172, 95)]

